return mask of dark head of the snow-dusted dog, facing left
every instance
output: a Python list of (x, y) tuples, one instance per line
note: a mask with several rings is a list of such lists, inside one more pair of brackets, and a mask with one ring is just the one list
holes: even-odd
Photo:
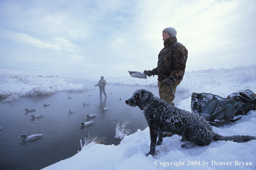
[(137, 90), (133, 93), (133, 96), (130, 97), (128, 100), (125, 101), (125, 103), (129, 106), (138, 106), (139, 109), (143, 109), (148, 102), (151, 100), (151, 97), (153, 97), (154, 94), (150, 91), (146, 91), (145, 89)]

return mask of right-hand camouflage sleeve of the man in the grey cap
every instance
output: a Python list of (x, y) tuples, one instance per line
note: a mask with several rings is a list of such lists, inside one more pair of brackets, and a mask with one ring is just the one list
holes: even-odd
[(183, 79), (188, 58), (188, 50), (182, 44), (179, 44), (178, 48), (175, 48), (174, 50), (175, 52), (173, 53), (173, 69), (169, 78), (173, 79), (173, 81), (175, 82), (177, 79)]

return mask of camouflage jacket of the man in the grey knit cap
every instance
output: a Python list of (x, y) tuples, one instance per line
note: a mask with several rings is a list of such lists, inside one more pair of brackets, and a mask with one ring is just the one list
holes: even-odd
[(164, 48), (158, 55), (157, 67), (151, 70), (152, 74), (158, 75), (158, 81), (167, 78), (174, 82), (181, 81), (185, 73), (188, 50), (177, 42), (176, 37), (165, 40), (163, 45)]

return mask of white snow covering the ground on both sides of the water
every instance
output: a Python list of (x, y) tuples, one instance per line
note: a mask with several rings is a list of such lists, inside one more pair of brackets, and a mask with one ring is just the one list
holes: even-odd
[[(145, 85), (147, 82), (145, 79), (136, 79), (130, 76), (106, 77), (106, 79), (108, 83), (121, 85)], [(98, 82), (98, 79), (91, 81)], [(147, 85), (156, 81), (157, 76), (149, 77)], [(0, 94), (12, 93), (18, 98), (26, 95), (37, 95), (38, 91), (40, 94), (48, 94), (47, 92), (53, 91), (85, 89), (86, 87), (83, 85), (65, 82), (65, 78), (0, 75)], [(184, 92), (183, 95), (186, 99), (180, 102), (177, 107), (191, 111), (192, 92), (206, 92), (227, 97), (228, 94), (243, 89), (250, 89), (256, 93), (256, 65), (234, 69), (186, 72), (182, 83), (177, 88), (177, 91)], [(13, 98), (8, 98), (4, 101), (13, 100)], [(213, 127), (213, 131), (224, 136), (256, 136), (256, 112), (248, 112), (237, 122)], [(81, 140), (84, 144), (84, 140)], [(181, 137), (177, 135), (165, 137), (162, 145), (157, 146), (156, 155), (146, 157), (145, 154), (150, 149), (149, 128), (147, 127), (145, 130), (138, 130), (134, 134), (125, 136), (118, 146), (95, 143), (87, 146), (82, 145), (81, 151), (73, 157), (52, 164), (43, 170), (256, 169), (256, 140), (247, 143), (215, 141), (209, 146), (197, 146), (192, 149), (182, 149), (180, 146), (183, 143), (180, 140)]]

